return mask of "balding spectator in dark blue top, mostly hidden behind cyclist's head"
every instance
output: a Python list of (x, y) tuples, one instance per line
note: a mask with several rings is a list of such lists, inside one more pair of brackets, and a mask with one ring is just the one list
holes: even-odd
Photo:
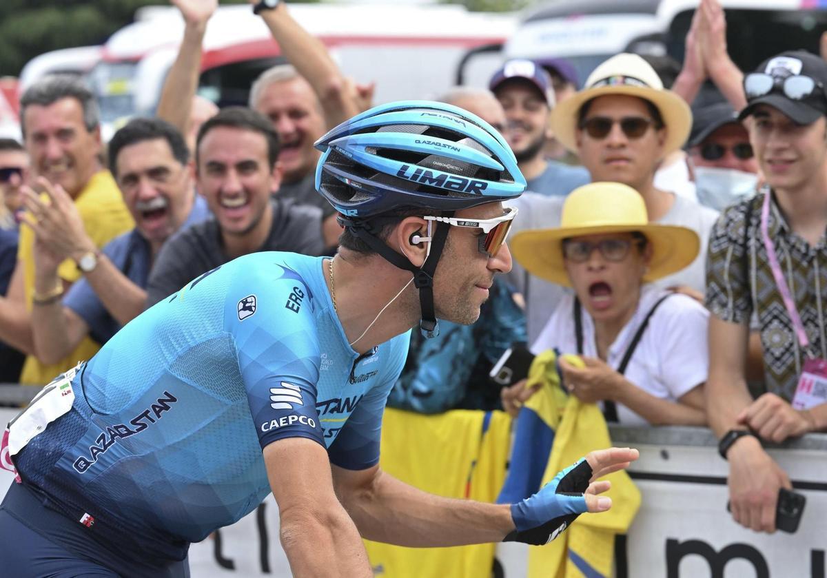
[[(503, 107), (485, 88), (454, 87), (437, 101), (463, 108), (503, 131)], [(439, 335), (431, 339), (411, 332), (408, 359), (388, 405), (419, 413), (501, 408), (500, 392), (490, 385), (488, 373), (507, 347), (527, 338), (514, 289), (495, 277), (473, 325), (439, 323)]]

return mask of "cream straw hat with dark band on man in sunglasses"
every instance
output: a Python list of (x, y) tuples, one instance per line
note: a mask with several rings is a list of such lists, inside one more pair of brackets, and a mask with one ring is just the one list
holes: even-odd
[(689, 105), (671, 90), (663, 88), (655, 70), (638, 55), (619, 54), (600, 64), (589, 75), (583, 89), (552, 110), (554, 137), (568, 150), (577, 150), (576, 131), (580, 109), (592, 98), (605, 94), (628, 94), (648, 100), (660, 111), (667, 131), (663, 155), (680, 149), (692, 127)]

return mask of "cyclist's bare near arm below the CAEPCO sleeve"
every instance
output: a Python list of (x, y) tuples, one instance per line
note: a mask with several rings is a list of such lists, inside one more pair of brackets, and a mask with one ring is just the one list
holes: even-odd
[(359, 532), (333, 491), (327, 451), (288, 437), (266, 446), (264, 461), (293, 576), (372, 577)]

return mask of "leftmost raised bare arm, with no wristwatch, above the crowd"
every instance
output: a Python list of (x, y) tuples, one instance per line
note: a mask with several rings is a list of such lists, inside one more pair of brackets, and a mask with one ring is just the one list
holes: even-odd
[[(198, 89), (201, 56), (207, 22), (218, 7), (218, 0), (170, 0), (184, 17), (184, 38), (161, 89), (157, 117), (169, 122), (182, 135), (189, 134), (193, 98)], [(190, 147), (194, 143), (187, 143)]]

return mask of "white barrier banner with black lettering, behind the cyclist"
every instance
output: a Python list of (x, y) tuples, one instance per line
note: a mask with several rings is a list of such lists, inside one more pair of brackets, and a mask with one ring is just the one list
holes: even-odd
[[(16, 414), (0, 408), (0, 423)], [(617, 578), (827, 578), (827, 436), (770, 450), (807, 500), (798, 531), (772, 535), (742, 528), (727, 513), (727, 464), (709, 430), (612, 428), (612, 438), (615, 445), (640, 450), (630, 472), (643, 494), (620, 548), (625, 556), (617, 561)], [(0, 494), (10, 483), (12, 474), (0, 470)], [(526, 576), (528, 550), (501, 544), (495, 576)], [(291, 576), (273, 496), (246, 518), (193, 544), (189, 564), (194, 578)]]

